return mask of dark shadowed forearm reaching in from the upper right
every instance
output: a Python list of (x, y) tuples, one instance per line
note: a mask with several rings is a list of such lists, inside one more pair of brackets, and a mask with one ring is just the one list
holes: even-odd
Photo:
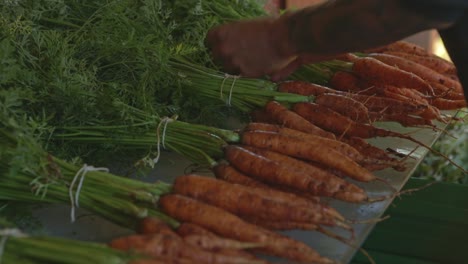
[(288, 48), (294, 54), (359, 51), (453, 22), (451, 18), (430, 18), (405, 1), (411, 2), (336, 0), (297, 11), (285, 19)]

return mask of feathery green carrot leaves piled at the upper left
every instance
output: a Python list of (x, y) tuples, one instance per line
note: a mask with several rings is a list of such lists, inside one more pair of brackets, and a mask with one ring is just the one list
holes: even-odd
[[(233, 110), (186, 92), (170, 62), (183, 58), (217, 70), (205, 47), (207, 31), (265, 15), (258, 1), (240, 0), (18, 0), (0, 8), (0, 89), (49, 130), (133, 125), (140, 121), (134, 109), (224, 126)], [(48, 147), (68, 157), (98, 152)]]

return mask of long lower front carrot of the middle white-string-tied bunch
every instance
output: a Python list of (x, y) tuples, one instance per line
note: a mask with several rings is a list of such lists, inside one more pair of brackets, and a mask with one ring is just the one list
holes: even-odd
[(226, 158), (234, 167), (265, 182), (349, 202), (362, 202), (367, 199), (362, 189), (319, 168), (309, 173), (293, 170), (239, 146), (228, 146), (225, 152)]

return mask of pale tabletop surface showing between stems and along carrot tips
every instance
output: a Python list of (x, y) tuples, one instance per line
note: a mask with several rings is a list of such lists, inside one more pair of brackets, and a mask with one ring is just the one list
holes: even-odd
[[(445, 124), (438, 125), (441, 128), (445, 127)], [(414, 138), (427, 145), (432, 145), (441, 134), (440, 131), (434, 131), (432, 129), (403, 128), (396, 123), (386, 122), (377, 124), (377, 126), (402, 133), (410, 133)], [(411, 157), (405, 161), (407, 166), (405, 171), (398, 172), (393, 169), (385, 169), (375, 173), (376, 176), (387, 181), (393, 189), (381, 181), (356, 183), (365, 188), (370, 197), (388, 196), (392, 194), (394, 190), (401, 190), (418, 164), (428, 153), (427, 149), (418, 147), (415, 143), (405, 139), (375, 138), (368, 141), (383, 149), (389, 147), (401, 153), (411, 153)], [(143, 180), (149, 182), (156, 180), (171, 182), (176, 176), (184, 174), (185, 168), (189, 165), (189, 161), (175, 153), (163, 153), (156, 168)], [(401, 198), (404, 199), (404, 196)], [(329, 200), (328, 202), (347, 219), (363, 221), (383, 217), (383, 213), (391, 204), (392, 200), (393, 199), (387, 199), (381, 202), (369, 204), (350, 204), (337, 200)], [(34, 215), (42, 220), (45, 229), (53, 236), (105, 243), (112, 238), (133, 233), (131, 230), (121, 228), (97, 216), (90, 215), (84, 210), (77, 211), (77, 221), (72, 224), (70, 223), (69, 218), (70, 207), (64, 205), (43, 207), (35, 210)], [(354, 246), (346, 245), (340, 241), (314, 231), (294, 230), (284, 232), (284, 234), (307, 243), (323, 256), (335, 259), (340, 263), (348, 263), (358, 250), (359, 246), (365, 241), (374, 225), (375, 223), (372, 222), (353, 225), (355, 230)], [(349, 237), (348, 231), (344, 231), (342, 229), (330, 230), (339, 235)], [(275, 261), (274, 259), (272, 260)]]

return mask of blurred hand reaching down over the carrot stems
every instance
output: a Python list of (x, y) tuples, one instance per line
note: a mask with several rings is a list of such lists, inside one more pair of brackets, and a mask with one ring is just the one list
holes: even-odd
[(299, 66), (281, 18), (221, 25), (211, 29), (206, 40), (215, 62), (231, 74), (279, 79)]

